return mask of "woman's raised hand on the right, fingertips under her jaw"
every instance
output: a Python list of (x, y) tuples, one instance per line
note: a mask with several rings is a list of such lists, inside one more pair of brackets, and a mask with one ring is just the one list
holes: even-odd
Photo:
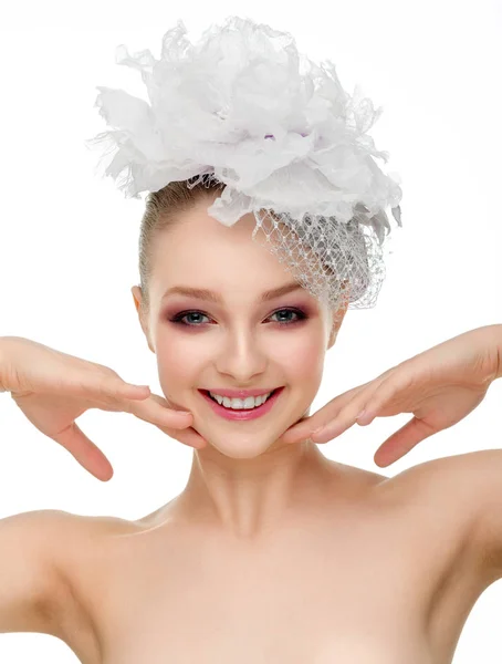
[[(501, 375), (501, 346), (502, 325), (464, 332), (344, 392), (290, 427), (281, 440), (327, 443), (356, 422), (365, 426), (375, 417), (412, 413), (412, 419), (375, 453), (378, 466), (394, 464), (421, 440), (460, 422), (483, 401), (491, 383)], [(320, 427), (322, 433), (314, 434)]]

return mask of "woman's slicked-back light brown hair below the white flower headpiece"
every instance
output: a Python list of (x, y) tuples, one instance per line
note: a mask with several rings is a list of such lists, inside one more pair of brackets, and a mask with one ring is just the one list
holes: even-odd
[[(196, 180), (197, 184), (194, 184)], [(188, 186), (190, 185), (190, 187)], [(188, 180), (171, 181), (158, 191), (146, 196), (145, 212), (139, 230), (139, 286), (142, 310), (149, 309), (148, 284), (151, 276), (151, 253), (156, 238), (169, 226), (176, 224), (180, 212), (191, 210), (200, 200), (207, 199), (208, 207), (227, 185), (210, 176), (192, 177)]]

